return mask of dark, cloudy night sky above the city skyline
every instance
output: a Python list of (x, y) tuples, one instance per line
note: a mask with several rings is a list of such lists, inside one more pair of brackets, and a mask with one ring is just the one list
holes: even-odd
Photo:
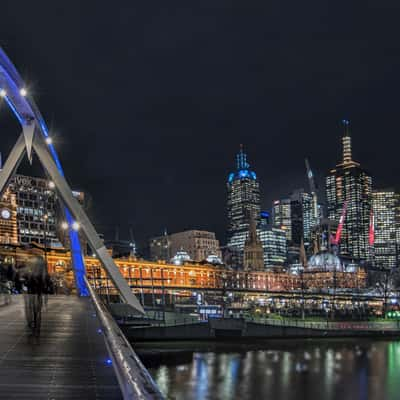
[[(400, 189), (400, 3), (2, 1), (0, 45), (108, 237), (216, 231), (243, 143), (262, 205), (323, 185), (343, 118), (375, 188)], [(0, 148), (19, 133), (0, 106)]]

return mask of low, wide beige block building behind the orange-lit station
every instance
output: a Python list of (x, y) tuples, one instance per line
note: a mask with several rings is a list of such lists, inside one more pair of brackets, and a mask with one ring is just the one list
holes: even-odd
[(214, 232), (192, 229), (168, 235), (171, 257), (179, 251), (185, 251), (193, 261), (204, 261), (210, 256), (222, 258), (219, 241)]

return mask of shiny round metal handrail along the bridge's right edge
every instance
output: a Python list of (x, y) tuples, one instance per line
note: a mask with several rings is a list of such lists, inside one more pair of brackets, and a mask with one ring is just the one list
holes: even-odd
[(113, 317), (100, 301), (85, 276), (85, 282), (103, 329), (104, 340), (112, 359), (124, 400), (162, 400), (164, 396), (144, 367)]

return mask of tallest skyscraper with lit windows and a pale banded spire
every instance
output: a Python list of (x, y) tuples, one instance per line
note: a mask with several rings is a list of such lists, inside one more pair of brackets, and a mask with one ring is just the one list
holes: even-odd
[(353, 161), (349, 122), (343, 121), (343, 159), (326, 177), (328, 218), (340, 221), (339, 248), (344, 255), (368, 258), (368, 233), (371, 212), (371, 176)]

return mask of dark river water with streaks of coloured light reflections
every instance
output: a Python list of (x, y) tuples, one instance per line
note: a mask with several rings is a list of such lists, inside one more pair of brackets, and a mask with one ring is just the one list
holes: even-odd
[(400, 400), (400, 342), (135, 344), (168, 399)]

